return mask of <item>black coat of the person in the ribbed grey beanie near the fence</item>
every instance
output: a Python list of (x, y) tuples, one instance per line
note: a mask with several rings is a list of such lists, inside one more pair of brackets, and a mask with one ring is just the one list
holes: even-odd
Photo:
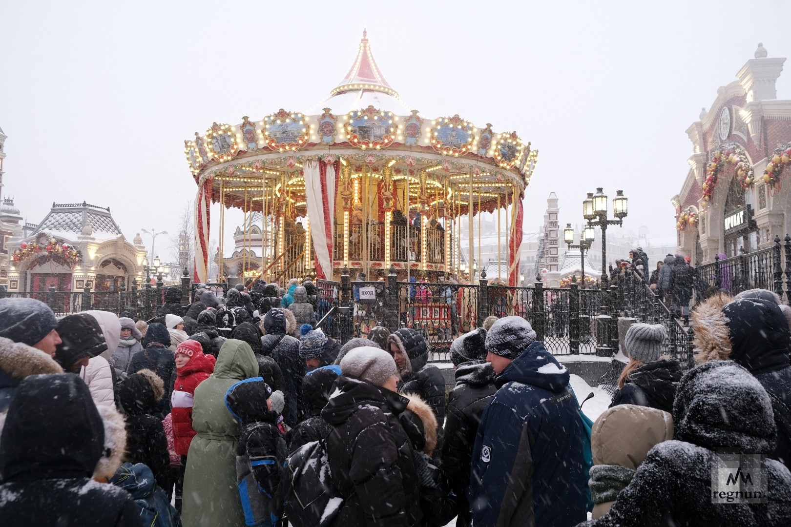
[(610, 408), (615, 405), (638, 405), (672, 412), (681, 374), (681, 363), (676, 359), (645, 363), (632, 371), (623, 388), (615, 392)]

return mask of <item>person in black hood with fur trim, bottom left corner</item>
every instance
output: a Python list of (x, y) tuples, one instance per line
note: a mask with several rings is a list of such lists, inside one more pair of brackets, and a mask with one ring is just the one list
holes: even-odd
[(124, 443), (123, 417), (97, 408), (77, 375), (26, 377), (0, 435), (0, 523), (139, 527), (127, 491), (93, 480), (100, 465), (112, 476)]

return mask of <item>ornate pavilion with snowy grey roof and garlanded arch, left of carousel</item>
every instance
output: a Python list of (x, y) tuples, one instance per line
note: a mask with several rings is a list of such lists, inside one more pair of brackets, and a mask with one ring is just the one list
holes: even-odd
[(53, 203), (30, 234), (6, 247), (9, 291), (115, 292), (143, 282), (146, 247), (139, 234), (132, 243), (124, 237), (109, 207)]

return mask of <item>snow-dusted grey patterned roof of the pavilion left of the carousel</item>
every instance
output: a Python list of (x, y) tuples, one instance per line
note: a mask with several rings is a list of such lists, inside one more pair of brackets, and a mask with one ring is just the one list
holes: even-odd
[(47, 232), (60, 238), (76, 240), (83, 232), (97, 240), (113, 239), (121, 235), (110, 208), (82, 203), (52, 204), (47, 214), (31, 235)]

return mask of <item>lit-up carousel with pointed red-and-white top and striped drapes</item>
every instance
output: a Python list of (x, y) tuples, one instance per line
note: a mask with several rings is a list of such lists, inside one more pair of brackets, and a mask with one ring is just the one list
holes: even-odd
[[(242, 255), (230, 271), (237, 277), (337, 280), (346, 268), (367, 280), (395, 269), (399, 280), (456, 273), (471, 281), (480, 213), (511, 206), (504, 220), (498, 213), (498, 252), (517, 284), (522, 198), (538, 156), (529, 142), (408, 107), (365, 32), (349, 73), (318, 106), (214, 122), (184, 141), (198, 185), (195, 280), (215, 278), (206, 276), (210, 258), (218, 281), (228, 277), (227, 243)], [(219, 248), (208, 247), (212, 203), (221, 204)], [(224, 239), (229, 207), (244, 212), (241, 243)]]

